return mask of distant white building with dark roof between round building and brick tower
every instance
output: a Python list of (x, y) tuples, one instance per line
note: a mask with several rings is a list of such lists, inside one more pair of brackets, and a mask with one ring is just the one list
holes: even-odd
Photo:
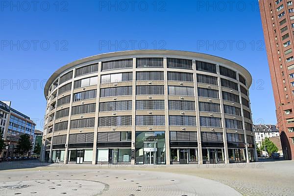
[(273, 124), (255, 124), (253, 125), (253, 132), (258, 147), (265, 138), (280, 136), (279, 129)]

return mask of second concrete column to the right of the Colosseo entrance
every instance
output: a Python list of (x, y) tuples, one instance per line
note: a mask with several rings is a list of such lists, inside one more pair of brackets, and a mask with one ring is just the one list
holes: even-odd
[(196, 126), (197, 126), (197, 151), (198, 151), (198, 164), (203, 164), (202, 157), (202, 143), (201, 143), (201, 127), (200, 127), (200, 114), (199, 114), (199, 105), (198, 105), (198, 84), (197, 84), (197, 74), (196, 74), (196, 61), (192, 61), (193, 70), (194, 70), (194, 94), (195, 94), (195, 110), (196, 110)]

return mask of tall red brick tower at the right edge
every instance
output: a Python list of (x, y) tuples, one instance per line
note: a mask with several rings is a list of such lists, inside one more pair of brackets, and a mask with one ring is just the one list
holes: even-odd
[[(278, 129), (286, 159), (294, 159), (294, 132), (289, 130), (294, 127), (294, 120), (291, 123), (291, 119), (294, 119), (294, 87), (291, 85), (294, 77), (290, 76), (294, 73), (294, 1), (291, 2), (259, 0)], [(289, 41), (291, 44), (288, 45)]]

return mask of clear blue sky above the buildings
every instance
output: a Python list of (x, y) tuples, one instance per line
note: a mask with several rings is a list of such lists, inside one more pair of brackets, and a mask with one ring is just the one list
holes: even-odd
[(5, 2), (0, 100), (37, 119), (38, 129), (46, 108), (44, 81), (54, 71), (83, 57), (129, 49), (204, 52), (241, 64), (253, 76), (254, 123), (276, 123), (257, 0)]

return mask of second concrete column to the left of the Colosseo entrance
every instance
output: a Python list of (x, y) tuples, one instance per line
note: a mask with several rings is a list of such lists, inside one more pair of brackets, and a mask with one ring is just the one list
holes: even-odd
[(97, 163), (97, 140), (98, 140), (98, 115), (99, 115), (99, 98), (100, 98), (100, 70), (102, 63), (98, 62), (98, 84), (97, 84), (97, 96), (96, 96), (96, 113), (95, 113), (95, 128), (94, 128), (94, 141), (93, 141), (93, 155), (92, 165)]

